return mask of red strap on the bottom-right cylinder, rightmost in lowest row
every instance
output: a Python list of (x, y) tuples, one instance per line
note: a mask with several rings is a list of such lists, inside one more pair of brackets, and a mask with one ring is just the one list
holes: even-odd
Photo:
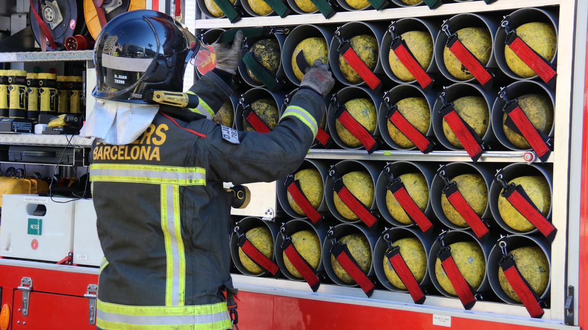
[(505, 273), (506, 280), (509, 281), (510, 286), (523, 303), (524, 308), (529, 312), (529, 315), (532, 318), (540, 318), (543, 316), (543, 308), (539, 305), (537, 294), (524, 279), (523, 275), (520, 274), (513, 258), (511, 256), (503, 258), (503, 260), (500, 261), (500, 267)]

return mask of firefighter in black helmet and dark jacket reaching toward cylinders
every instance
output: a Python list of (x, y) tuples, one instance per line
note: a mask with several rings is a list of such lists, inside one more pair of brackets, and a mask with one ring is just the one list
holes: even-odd
[(98, 328), (232, 328), (231, 196), (223, 182), (270, 182), (298, 169), (335, 83), (314, 63), (272, 132), (220, 126), (206, 117), (229, 100), (242, 39), (238, 32), (232, 45), (214, 45), (216, 68), (190, 88), (199, 98), (193, 110), (145, 101), (149, 90), (182, 90), (199, 43), (180, 23), (131, 11), (96, 41), (96, 106), (82, 135), (99, 138), (90, 167), (105, 255)]

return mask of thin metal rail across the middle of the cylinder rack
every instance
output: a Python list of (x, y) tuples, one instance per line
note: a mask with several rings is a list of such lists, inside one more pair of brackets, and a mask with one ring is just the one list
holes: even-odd
[[(524, 154), (533, 154), (531, 151), (486, 151), (482, 154), (479, 162), (486, 163), (519, 163), (526, 161)], [(410, 160), (410, 161), (467, 161), (471, 162), (466, 151), (432, 151), (423, 154), (420, 151), (400, 151), (400, 150), (378, 150), (368, 154), (365, 150), (309, 150), (307, 159), (355, 159), (355, 160)], [(534, 157), (535, 162), (539, 162)], [(547, 163), (553, 163), (554, 153), (549, 156)]]

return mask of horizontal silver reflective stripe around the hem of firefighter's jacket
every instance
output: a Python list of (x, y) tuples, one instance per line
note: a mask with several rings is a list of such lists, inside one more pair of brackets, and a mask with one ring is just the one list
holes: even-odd
[(190, 325), (190, 324), (213, 324), (215, 322), (229, 320), (229, 313), (226, 311), (215, 314), (202, 315), (126, 315), (104, 312), (98, 309), (96, 318), (106, 322), (125, 323), (132, 325)]

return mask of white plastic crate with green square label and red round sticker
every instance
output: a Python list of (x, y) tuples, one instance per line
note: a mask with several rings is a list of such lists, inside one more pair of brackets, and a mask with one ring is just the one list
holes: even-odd
[(2, 200), (2, 257), (51, 262), (68, 257), (74, 247), (75, 204), (63, 202), (72, 198), (4, 195)]

